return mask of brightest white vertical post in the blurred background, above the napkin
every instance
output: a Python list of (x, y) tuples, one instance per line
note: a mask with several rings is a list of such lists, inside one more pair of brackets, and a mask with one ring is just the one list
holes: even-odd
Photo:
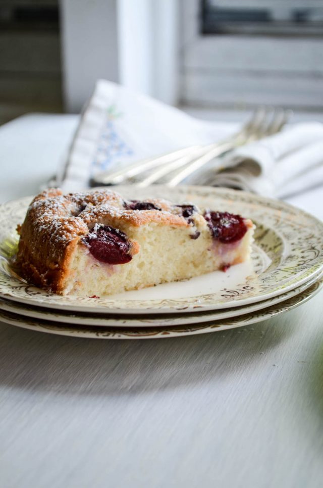
[(178, 31), (178, 0), (119, 0), (120, 82), (177, 104)]

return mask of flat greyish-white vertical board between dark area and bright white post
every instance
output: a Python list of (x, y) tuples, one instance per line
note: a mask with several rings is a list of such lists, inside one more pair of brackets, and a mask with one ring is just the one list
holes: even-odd
[(117, 0), (61, 0), (64, 98), (79, 112), (95, 81), (119, 80)]

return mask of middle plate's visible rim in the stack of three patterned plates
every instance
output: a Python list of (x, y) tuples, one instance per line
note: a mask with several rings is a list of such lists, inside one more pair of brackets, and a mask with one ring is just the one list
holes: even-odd
[(73, 325), (94, 325), (95, 327), (168, 327), (169, 325), (185, 325), (196, 324), (203, 322), (211, 322), (214, 320), (223, 320), (227, 318), (237, 317), (239, 315), (249, 314), (277, 305), (284, 302), (302, 291), (309, 288), (313, 283), (323, 278), (323, 273), (320, 273), (318, 278), (312, 278), (306, 281), (301, 286), (293, 290), (286, 291), (282, 295), (263, 300), (251, 305), (244, 305), (242, 307), (227, 308), (224, 310), (216, 310), (211, 312), (191, 312), (189, 314), (155, 314), (155, 315), (103, 315), (103, 314), (86, 314), (74, 312), (59, 312), (48, 308), (32, 307), (11, 300), (4, 300), (0, 298), (0, 310), (12, 312), (25, 317), (33, 319), (49, 320), (51, 322), (63, 322), (65, 324)]

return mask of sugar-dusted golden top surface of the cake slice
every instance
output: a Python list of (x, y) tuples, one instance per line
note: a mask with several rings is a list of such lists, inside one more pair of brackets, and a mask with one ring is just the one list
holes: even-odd
[(149, 222), (188, 225), (180, 209), (166, 200), (127, 201), (119, 193), (105, 189), (64, 195), (62, 190), (50, 188), (34, 198), (27, 215), (37, 221), (40, 231), (50, 225), (61, 240), (87, 232), (95, 223), (106, 220), (135, 227)]

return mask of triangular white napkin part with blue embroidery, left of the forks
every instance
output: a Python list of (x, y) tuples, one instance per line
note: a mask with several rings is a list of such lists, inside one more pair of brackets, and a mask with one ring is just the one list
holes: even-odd
[(238, 127), (195, 119), (121, 85), (98, 80), (56, 184), (66, 191), (84, 189), (95, 173), (190, 145), (216, 142)]

